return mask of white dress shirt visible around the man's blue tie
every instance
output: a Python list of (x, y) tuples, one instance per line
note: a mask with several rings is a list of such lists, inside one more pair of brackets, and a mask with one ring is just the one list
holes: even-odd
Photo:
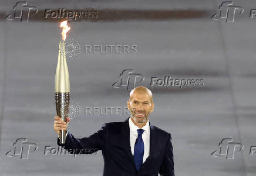
[[(136, 142), (136, 139), (138, 137), (137, 129), (140, 129), (134, 123), (132, 122), (131, 118), (129, 118), (129, 127), (130, 127), (130, 145), (132, 154), (134, 154), (134, 145)], [(150, 137), (150, 130), (149, 130), (149, 120), (147, 120), (146, 125), (142, 127), (144, 132), (142, 133), (142, 139), (144, 143), (144, 155), (143, 155), (143, 163), (147, 160), (147, 157), (149, 157), (149, 137)]]

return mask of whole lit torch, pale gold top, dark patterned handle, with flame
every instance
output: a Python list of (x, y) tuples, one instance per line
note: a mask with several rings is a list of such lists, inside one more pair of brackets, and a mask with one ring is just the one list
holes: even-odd
[[(65, 39), (66, 33), (70, 30), (67, 21), (60, 23), (62, 27), (62, 41), (59, 42), (58, 64), (55, 74), (55, 103), (57, 115), (66, 122), (69, 113), (69, 70), (66, 62)], [(65, 144), (66, 130), (60, 130), (60, 144)]]

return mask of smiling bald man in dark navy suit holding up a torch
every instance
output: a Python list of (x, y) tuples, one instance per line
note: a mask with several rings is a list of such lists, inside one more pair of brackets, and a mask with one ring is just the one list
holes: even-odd
[[(76, 154), (102, 150), (103, 176), (174, 176), (171, 134), (149, 123), (154, 108), (151, 91), (134, 88), (127, 106), (131, 115), (124, 122), (105, 123), (102, 129), (81, 139), (68, 132), (65, 145), (59, 144), (59, 138), (58, 145)], [(69, 118), (65, 123), (55, 116), (56, 133), (66, 130), (69, 122)]]

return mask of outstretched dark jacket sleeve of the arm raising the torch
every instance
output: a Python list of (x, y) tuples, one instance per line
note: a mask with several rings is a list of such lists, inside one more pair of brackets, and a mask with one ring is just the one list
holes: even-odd
[(57, 144), (68, 150), (69, 153), (76, 154), (93, 154), (98, 150), (103, 150), (107, 142), (107, 127), (106, 123), (102, 126), (102, 129), (89, 137), (76, 138), (70, 132), (66, 135), (66, 143), (60, 144), (59, 137), (57, 138)]

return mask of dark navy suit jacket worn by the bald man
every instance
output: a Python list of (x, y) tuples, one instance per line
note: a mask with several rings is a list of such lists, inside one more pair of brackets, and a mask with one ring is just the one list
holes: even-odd
[[(66, 136), (64, 149), (70, 153), (85, 154), (102, 150), (104, 158), (103, 176), (174, 176), (173, 146), (171, 134), (150, 125), (150, 156), (136, 171), (130, 149), (129, 118), (124, 122), (105, 123), (102, 129), (89, 137), (75, 138), (70, 132)], [(59, 138), (58, 138), (58, 145)], [(80, 150), (69, 150), (80, 149)], [(85, 150), (81, 150), (85, 149)]]

